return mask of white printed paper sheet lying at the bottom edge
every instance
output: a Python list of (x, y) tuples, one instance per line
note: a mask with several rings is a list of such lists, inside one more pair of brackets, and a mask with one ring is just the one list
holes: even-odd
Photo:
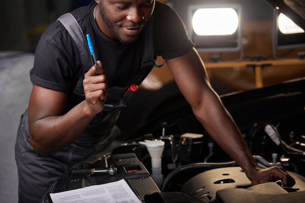
[(124, 179), (103, 185), (50, 193), (53, 203), (142, 203)]

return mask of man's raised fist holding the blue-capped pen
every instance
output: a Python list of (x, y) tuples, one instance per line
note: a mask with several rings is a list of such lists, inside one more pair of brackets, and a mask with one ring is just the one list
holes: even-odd
[(85, 74), (83, 80), (88, 107), (95, 114), (104, 109), (104, 103), (108, 94), (108, 81), (102, 63), (100, 61), (97, 62), (98, 66), (92, 66)]

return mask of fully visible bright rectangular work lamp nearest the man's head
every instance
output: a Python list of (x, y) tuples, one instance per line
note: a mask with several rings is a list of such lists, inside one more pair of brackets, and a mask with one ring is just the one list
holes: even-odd
[(198, 52), (238, 52), (241, 50), (241, 6), (190, 5), (188, 35)]

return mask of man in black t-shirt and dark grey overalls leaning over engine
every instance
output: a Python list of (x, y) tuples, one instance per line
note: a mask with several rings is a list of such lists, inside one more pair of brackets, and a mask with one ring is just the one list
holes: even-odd
[[(119, 103), (138, 74), (150, 23), (154, 58), (161, 55), (167, 60), (196, 118), (252, 184), (282, 179), (285, 185), (294, 185), (282, 167), (263, 170), (252, 158), (211, 89), (184, 25), (170, 7), (154, 0), (95, 0), (74, 15), (83, 32), (91, 36), (98, 65), (88, 67), (82, 79), (77, 48), (59, 21), (41, 37), (31, 71), (33, 90), (16, 142), (19, 202), (39, 202), (58, 176), (102, 150), (118, 134), (115, 121), (120, 108), (108, 104)], [(84, 95), (77, 92), (78, 85)]]

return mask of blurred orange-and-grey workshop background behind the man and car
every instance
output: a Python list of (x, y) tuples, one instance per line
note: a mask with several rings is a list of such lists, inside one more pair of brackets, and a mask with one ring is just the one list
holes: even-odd
[[(35, 48), (44, 30), (60, 15), (92, 0), (1, 0), (0, 2), (0, 202), (18, 202), (17, 169), (14, 145), (20, 115), (31, 92), (29, 70)], [(168, 3), (180, 15), (196, 48), (205, 62), (211, 84), (219, 95), (259, 89), (305, 76), (304, 43), (281, 46), (276, 43), (277, 13), (265, 0), (158, 0)], [(194, 6), (202, 8), (233, 6), (238, 15), (236, 37), (216, 41), (232, 43), (217, 49), (200, 42), (203, 35), (192, 33), (190, 15)], [(199, 21), (203, 21), (199, 17)], [(212, 19), (212, 18), (210, 18)], [(224, 19), (224, 18), (222, 18)], [(303, 36), (304, 38), (304, 36)], [(204, 39), (207, 41), (207, 39)], [(223, 41), (222, 41), (223, 40)], [(198, 43), (197, 43), (198, 41)], [(215, 43), (213, 43), (215, 44)], [(303, 46), (299, 46), (299, 44)], [(200, 49), (200, 47), (210, 49)], [(158, 58), (158, 62), (163, 59)], [(154, 68), (142, 89), (157, 91), (171, 84), (166, 65)]]

